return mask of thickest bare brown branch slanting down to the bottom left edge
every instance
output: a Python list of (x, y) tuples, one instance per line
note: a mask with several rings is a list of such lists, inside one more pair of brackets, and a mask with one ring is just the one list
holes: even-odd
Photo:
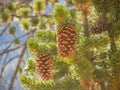
[(13, 88), (13, 84), (14, 84), (14, 81), (15, 81), (15, 78), (16, 78), (16, 75), (17, 75), (17, 72), (18, 72), (18, 70), (19, 70), (19, 66), (20, 66), (20, 64), (21, 64), (21, 62), (22, 62), (22, 60), (23, 60), (23, 57), (24, 57), (26, 48), (27, 48), (27, 46), (26, 46), (26, 44), (25, 44), (24, 47), (23, 47), (23, 49), (22, 49), (21, 55), (20, 55), (20, 57), (19, 57), (19, 60), (18, 60), (18, 63), (17, 63), (17, 67), (16, 67), (16, 70), (15, 70), (15, 72), (14, 72), (14, 74), (13, 74), (12, 79), (11, 79), (11, 82), (10, 82), (10, 85), (9, 85), (8, 90), (12, 90), (12, 88)]

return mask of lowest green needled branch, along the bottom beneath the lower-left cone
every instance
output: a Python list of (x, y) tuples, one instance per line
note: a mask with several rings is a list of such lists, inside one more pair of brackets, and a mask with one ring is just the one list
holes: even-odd
[(20, 81), (25, 87), (35, 90), (81, 90), (79, 80), (75, 78), (66, 78), (59, 82), (43, 82), (36, 79), (37, 78), (22, 76)]

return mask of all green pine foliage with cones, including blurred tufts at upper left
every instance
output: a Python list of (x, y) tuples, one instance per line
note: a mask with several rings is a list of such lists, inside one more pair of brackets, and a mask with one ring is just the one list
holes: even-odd
[[(0, 21), (16, 20), (32, 37), (21, 84), (31, 90), (120, 90), (120, 0), (65, 1), (0, 7)], [(54, 10), (44, 14), (49, 6)], [(7, 32), (15, 36), (17, 28)]]

